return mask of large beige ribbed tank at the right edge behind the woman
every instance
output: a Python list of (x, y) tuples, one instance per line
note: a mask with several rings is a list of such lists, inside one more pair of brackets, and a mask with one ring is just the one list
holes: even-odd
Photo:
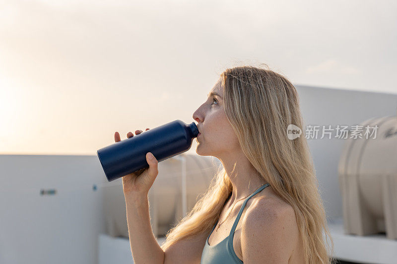
[(371, 118), (361, 126), (376, 128), (377, 135), (350, 136), (340, 156), (344, 231), (386, 232), (397, 239), (397, 116)]

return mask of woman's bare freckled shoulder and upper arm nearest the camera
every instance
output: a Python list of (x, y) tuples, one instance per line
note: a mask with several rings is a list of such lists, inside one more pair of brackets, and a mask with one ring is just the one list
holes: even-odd
[(254, 199), (243, 219), (244, 263), (288, 263), (298, 233), (291, 205), (271, 196)]

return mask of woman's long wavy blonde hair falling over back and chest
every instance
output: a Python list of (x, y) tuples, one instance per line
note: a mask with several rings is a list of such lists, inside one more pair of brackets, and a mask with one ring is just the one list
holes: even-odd
[[(242, 151), (274, 192), (295, 211), (305, 263), (333, 263), (323, 231), (331, 241), (331, 256), (333, 241), (295, 87), (281, 74), (254, 66), (226, 69), (220, 78), (225, 113)], [(302, 135), (288, 139), (289, 124), (301, 128)], [(233, 189), (220, 167), (194, 208), (168, 231), (161, 246), (164, 251), (179, 240), (202, 232), (209, 234)]]

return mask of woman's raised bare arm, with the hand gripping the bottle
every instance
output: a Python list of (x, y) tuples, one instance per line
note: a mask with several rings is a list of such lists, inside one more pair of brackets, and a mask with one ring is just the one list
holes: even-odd
[[(149, 130), (149, 128), (146, 128)], [(136, 130), (136, 134), (142, 130)], [(127, 134), (133, 137), (132, 132)], [(115, 142), (121, 141), (119, 132), (115, 132)], [(135, 264), (174, 264), (200, 263), (204, 243), (209, 234), (200, 234), (191, 239), (183, 239), (165, 250), (160, 248), (154, 237), (149, 216), (148, 193), (158, 174), (158, 161), (146, 153), (149, 168), (123, 176), (123, 192), (127, 207), (128, 234), (132, 258)]]

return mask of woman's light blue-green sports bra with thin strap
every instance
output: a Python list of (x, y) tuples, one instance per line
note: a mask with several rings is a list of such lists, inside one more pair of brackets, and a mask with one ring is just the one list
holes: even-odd
[[(218, 222), (216, 222), (216, 224), (212, 228), (211, 233), (209, 233), (209, 235), (205, 241), (205, 246), (204, 246), (204, 249), (202, 250), (202, 254), (201, 254), (201, 262), (200, 262), (201, 264), (232, 264), (232, 263), (242, 264), (243, 263), (243, 261), (240, 260), (239, 257), (237, 257), (236, 253), (234, 252), (234, 248), (233, 248), (234, 231), (237, 227), (237, 224), (240, 220), (241, 214), (243, 213), (244, 207), (247, 204), (248, 200), (251, 197), (253, 197), (254, 195), (256, 195), (257, 193), (259, 193), (260, 191), (262, 191), (263, 189), (265, 189), (267, 186), (269, 186), (268, 183), (266, 183), (265, 185), (262, 185), (254, 193), (252, 193), (249, 197), (247, 197), (245, 199), (244, 204), (241, 206), (241, 209), (240, 209), (239, 213), (237, 214), (236, 220), (234, 221), (234, 224), (233, 224), (232, 230), (230, 231), (229, 236), (225, 237), (218, 244), (210, 246), (208, 244), (208, 238), (211, 236), (212, 232), (215, 229), (215, 226), (218, 224)], [(226, 201), (227, 201), (227, 199), (226, 199)], [(218, 221), (219, 221), (219, 219), (218, 219)]]

